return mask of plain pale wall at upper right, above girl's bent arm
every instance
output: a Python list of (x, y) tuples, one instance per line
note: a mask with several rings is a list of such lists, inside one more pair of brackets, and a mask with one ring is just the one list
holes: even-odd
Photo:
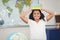
[(55, 14), (60, 13), (60, 0), (41, 0), (44, 7), (55, 11)]

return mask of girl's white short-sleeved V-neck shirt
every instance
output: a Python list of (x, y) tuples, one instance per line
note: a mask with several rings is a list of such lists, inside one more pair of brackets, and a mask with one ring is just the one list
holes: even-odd
[(31, 39), (46, 40), (46, 27), (45, 27), (46, 21), (41, 19), (37, 23), (37, 22), (29, 19), (28, 24), (30, 26)]

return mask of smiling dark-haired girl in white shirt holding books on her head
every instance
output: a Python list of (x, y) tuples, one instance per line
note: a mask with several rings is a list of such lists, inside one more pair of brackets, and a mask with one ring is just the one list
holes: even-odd
[[(48, 15), (45, 17), (43, 13), (41, 12), (45, 11), (48, 13)], [(46, 22), (49, 21), (53, 15), (54, 12), (47, 10), (47, 9), (34, 9), (32, 10), (29, 19), (26, 17), (26, 15), (31, 12), (31, 9), (27, 10), (26, 12), (21, 13), (20, 18), (25, 22), (28, 23), (30, 26), (30, 32), (31, 32), (31, 40), (46, 40)]]

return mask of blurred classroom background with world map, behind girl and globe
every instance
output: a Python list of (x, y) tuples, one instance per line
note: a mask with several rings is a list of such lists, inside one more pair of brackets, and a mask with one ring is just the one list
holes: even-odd
[(47, 40), (60, 40), (60, 0), (0, 0), (0, 40), (7, 40), (12, 32), (23, 33), (30, 39), (29, 25), (20, 19), (21, 12), (28, 10), (30, 5), (54, 11), (55, 16), (46, 25)]

